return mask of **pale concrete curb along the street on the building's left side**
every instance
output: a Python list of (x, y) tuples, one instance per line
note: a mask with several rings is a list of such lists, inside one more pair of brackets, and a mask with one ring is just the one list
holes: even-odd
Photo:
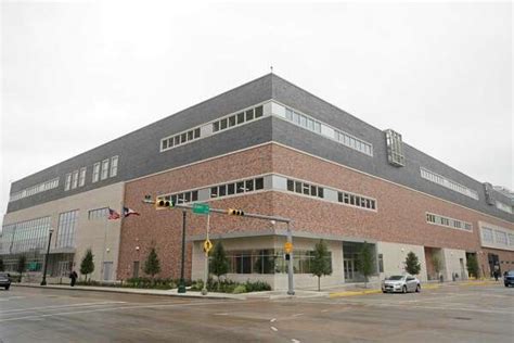
[(123, 294), (136, 294), (136, 295), (156, 295), (156, 296), (176, 296), (176, 297), (188, 297), (188, 298), (217, 298), (217, 300), (246, 300), (246, 295), (196, 295), (188, 293), (150, 293), (150, 292), (138, 292), (132, 291), (137, 289), (116, 289), (116, 288), (104, 288), (104, 289), (86, 289), (83, 287), (61, 287), (61, 285), (40, 285), (40, 284), (23, 284), (23, 283), (12, 283), (14, 287), (26, 287), (35, 289), (52, 289), (52, 290), (65, 290), (65, 291), (87, 291), (87, 292), (106, 292), (106, 293), (123, 293)]

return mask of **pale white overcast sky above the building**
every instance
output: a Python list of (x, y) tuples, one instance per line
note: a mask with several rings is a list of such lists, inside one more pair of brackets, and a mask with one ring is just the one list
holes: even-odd
[(270, 65), (458, 170), (514, 188), (509, 2), (2, 2), (0, 215), (11, 181)]

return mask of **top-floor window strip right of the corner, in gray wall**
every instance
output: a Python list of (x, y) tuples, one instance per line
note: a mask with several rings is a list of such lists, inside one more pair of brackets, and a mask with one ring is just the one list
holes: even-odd
[(286, 120), (298, 125), (305, 129), (308, 129), (312, 132), (316, 132), (318, 135), (324, 135), (327, 136), (343, 145), (346, 145), (350, 149), (357, 150), (361, 153), (364, 153), (367, 155), (373, 156), (373, 149), (372, 145), (361, 139), (356, 138), (352, 135), (349, 135), (345, 131), (333, 129), (329, 127), (327, 125), (313, 119), (305, 114), (298, 113), (292, 109), (284, 107), (278, 103), (273, 103), (273, 106), (279, 110), (279, 115), (285, 118)]

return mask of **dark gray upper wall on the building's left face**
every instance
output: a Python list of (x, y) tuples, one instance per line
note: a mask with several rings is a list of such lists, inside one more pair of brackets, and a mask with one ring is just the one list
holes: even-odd
[[(271, 99), (271, 75), (266, 75), (86, 153), (25, 177), (11, 185), (11, 193), (55, 177), (61, 179), (59, 188), (9, 203), (8, 213), (269, 141), (271, 139), (271, 127), (269, 126), (271, 122), (269, 119), (260, 119), (256, 123), (244, 125), (241, 128), (228, 130), (211, 138), (159, 153), (160, 138), (187, 130), (269, 99)], [(93, 164), (114, 155), (119, 156), (117, 176), (92, 183)], [(85, 166), (87, 167), (86, 185), (65, 192), (65, 175)]]

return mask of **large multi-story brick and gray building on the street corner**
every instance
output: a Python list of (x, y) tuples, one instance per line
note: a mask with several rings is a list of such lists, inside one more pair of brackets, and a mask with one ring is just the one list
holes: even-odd
[[(312, 287), (311, 251), (323, 239), (333, 274), (323, 284), (363, 280), (356, 263), (372, 244), (375, 278), (403, 271), (414, 252), (422, 280), (466, 278), (476, 255), (484, 275), (514, 268), (510, 199), (277, 75), (268, 74), (12, 185), (2, 256), (31, 254), (40, 269), (48, 230), (52, 276), (78, 268), (91, 247), (93, 278), (143, 276), (155, 246), (159, 277), (179, 277), (182, 212), (156, 211), (145, 195), (206, 202), (292, 218), (295, 287)], [(108, 208), (140, 216), (107, 220)], [(187, 277), (204, 271), (206, 217), (187, 215)], [(280, 223), (211, 215), (228, 277), (287, 284)], [(7, 262), (7, 263), (5, 263)]]

